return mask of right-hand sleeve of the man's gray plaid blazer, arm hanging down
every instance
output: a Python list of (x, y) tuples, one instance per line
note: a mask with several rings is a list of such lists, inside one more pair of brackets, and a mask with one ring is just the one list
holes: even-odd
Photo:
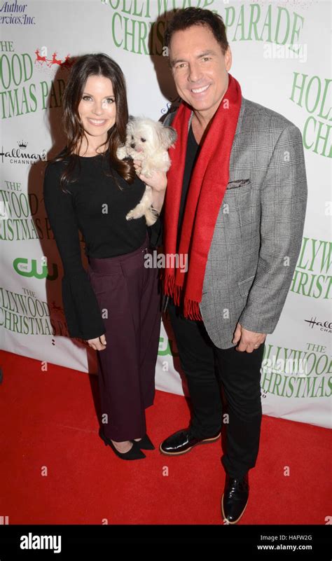
[(249, 331), (273, 333), (277, 326), (300, 253), (306, 206), (302, 135), (289, 125), (275, 145), (262, 186), (261, 249), (239, 318)]

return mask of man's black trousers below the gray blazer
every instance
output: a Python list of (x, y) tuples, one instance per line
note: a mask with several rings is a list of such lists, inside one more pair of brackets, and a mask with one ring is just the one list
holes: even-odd
[[(167, 310), (177, 340), (179, 360), (193, 406), (190, 430), (208, 438), (226, 425), (226, 454), (221, 464), (231, 477), (256, 465), (261, 434), (261, 363), (264, 343), (253, 352), (219, 349), (203, 321), (184, 318), (170, 298)], [(227, 404), (223, 410), (221, 388)]]

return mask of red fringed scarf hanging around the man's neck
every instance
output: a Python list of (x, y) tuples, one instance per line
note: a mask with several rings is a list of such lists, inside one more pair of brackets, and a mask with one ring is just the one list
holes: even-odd
[[(177, 251), (177, 225), (184, 179), (184, 166), (188, 139), (188, 120), (191, 107), (181, 102), (172, 127), (177, 130), (177, 145), (170, 148), (172, 165), (167, 174), (165, 195), (165, 243), (166, 256), (164, 291), (179, 305), (184, 293), (184, 316), (202, 319), (199, 303), (216, 219), (229, 179), (230, 151), (241, 106), (240, 84), (228, 74), (228, 90), (201, 144), (195, 163), (182, 223), (179, 244), (179, 263), (172, 263), (170, 256)], [(188, 270), (181, 269), (187, 259)]]

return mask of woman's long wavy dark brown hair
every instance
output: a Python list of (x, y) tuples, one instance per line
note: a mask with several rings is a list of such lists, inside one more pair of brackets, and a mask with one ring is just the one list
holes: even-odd
[[(79, 161), (79, 158), (75, 157), (75, 151), (81, 146), (83, 137), (85, 137), (88, 143), (81, 117), (78, 113), (78, 105), (81, 102), (85, 83), (89, 76), (104, 76), (105, 78), (109, 78), (113, 85), (113, 95), (116, 102), (116, 122), (113, 127), (107, 131), (105, 144), (101, 145), (105, 147), (106, 153), (109, 153), (111, 176), (113, 176), (113, 179), (116, 181), (112, 173), (112, 168), (116, 169), (116, 172), (128, 183), (132, 183), (136, 175), (131, 160), (119, 160), (116, 156), (118, 146), (125, 143), (126, 125), (128, 121), (127, 92), (123, 71), (111, 57), (104, 53), (83, 55), (73, 64), (62, 97), (62, 125), (67, 136), (67, 146), (60, 155), (47, 162), (48, 165), (52, 162), (69, 160), (60, 178), (60, 186), (64, 191), (67, 191), (64, 187), (68, 185), (72, 179), (75, 162), (77, 160)], [(101, 146), (98, 146), (98, 148)], [(116, 183), (118, 182), (116, 181)], [(118, 185), (118, 187), (120, 187), (120, 185)]]

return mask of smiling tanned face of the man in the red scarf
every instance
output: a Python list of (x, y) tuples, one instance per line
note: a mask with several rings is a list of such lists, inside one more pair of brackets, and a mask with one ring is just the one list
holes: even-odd
[(223, 55), (211, 29), (193, 25), (174, 32), (169, 55), (179, 96), (202, 116), (212, 118), (228, 88), (230, 48)]

